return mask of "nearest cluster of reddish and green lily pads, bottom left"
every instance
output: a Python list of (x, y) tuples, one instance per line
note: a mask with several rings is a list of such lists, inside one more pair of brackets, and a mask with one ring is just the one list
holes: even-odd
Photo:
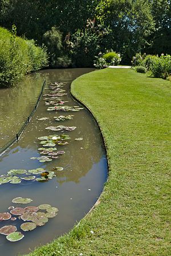
[[(29, 204), (31, 198), (17, 197), (12, 200), (14, 204)], [(0, 221), (24, 221), (20, 228), (23, 231), (34, 230), (38, 226), (44, 226), (49, 218), (54, 218), (58, 214), (58, 208), (49, 204), (41, 204), (39, 206), (9, 207), (10, 213), (0, 213)], [(14, 225), (5, 225), (0, 228), (0, 234), (6, 235), (6, 239), (10, 242), (16, 242), (25, 237), (21, 231), (17, 231)]]

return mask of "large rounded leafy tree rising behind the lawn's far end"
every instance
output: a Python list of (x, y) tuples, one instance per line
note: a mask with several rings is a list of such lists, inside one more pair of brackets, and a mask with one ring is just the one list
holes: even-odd
[(123, 62), (151, 43), (154, 20), (148, 1), (99, 1), (96, 13), (97, 21), (111, 29), (110, 47), (121, 53)]

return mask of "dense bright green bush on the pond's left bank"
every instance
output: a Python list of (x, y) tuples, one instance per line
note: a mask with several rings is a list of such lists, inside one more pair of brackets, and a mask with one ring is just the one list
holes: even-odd
[(24, 75), (46, 67), (46, 50), (36, 46), (34, 40), (26, 40), (0, 27), (0, 87), (13, 86)]

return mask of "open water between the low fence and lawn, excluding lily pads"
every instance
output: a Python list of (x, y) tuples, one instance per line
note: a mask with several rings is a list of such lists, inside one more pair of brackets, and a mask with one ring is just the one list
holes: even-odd
[[(69, 80), (91, 69), (68, 69), (68, 70), (44, 70), (40, 74), (46, 77), (47, 88), (44, 95), (50, 94), (52, 89), (48, 86), (59, 80), (66, 83), (60, 87), (67, 95), (60, 99), (68, 101), (64, 105), (70, 107), (82, 106), (72, 99), (70, 95)], [(34, 76), (32, 77), (34, 83)], [(44, 226), (38, 226), (32, 231), (22, 231), (20, 229), (22, 220), (6, 220), (0, 222), (0, 227), (5, 225), (15, 225), (25, 237), (18, 242), (9, 242), (5, 235), (0, 234), (0, 255), (16, 256), (19, 253), (29, 253), (35, 246), (44, 245), (68, 232), (76, 222), (82, 219), (89, 209), (95, 204), (97, 198), (103, 190), (104, 182), (107, 179), (107, 159), (101, 133), (96, 121), (91, 113), (86, 109), (78, 112), (47, 111), (46, 97), (44, 96), (39, 106), (21, 135), (21, 139), (0, 157), (0, 174), (6, 174), (10, 169), (36, 169), (44, 168), (47, 172), (56, 166), (62, 166), (62, 171), (55, 171), (55, 177), (47, 182), (23, 181), (19, 184), (2, 184), (0, 212), (9, 212), (9, 206), (26, 207), (38, 206), (40, 204), (50, 204), (59, 209), (57, 216), (49, 218)], [(54, 117), (59, 115), (74, 115), (71, 120), (55, 121)], [(47, 117), (47, 120), (38, 119)], [(1, 116), (2, 118), (2, 116)], [(50, 126), (64, 125), (66, 127), (76, 127), (74, 131), (50, 131), (46, 129)], [(70, 136), (67, 145), (58, 145), (58, 151), (65, 153), (59, 155), (58, 159), (50, 162), (39, 162), (32, 157), (40, 157), (39, 148), (40, 136), (61, 135)], [(83, 140), (75, 140), (76, 138)], [(43, 155), (44, 156), (44, 155)], [(28, 197), (32, 202), (28, 205), (16, 205), (11, 201), (15, 197)], [(11, 223), (12, 222), (12, 223)]]

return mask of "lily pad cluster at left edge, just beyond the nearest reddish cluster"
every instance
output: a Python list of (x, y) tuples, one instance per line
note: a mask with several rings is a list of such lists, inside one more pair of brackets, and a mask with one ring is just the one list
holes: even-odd
[[(60, 168), (60, 167), (59, 167)], [(0, 185), (10, 183), (19, 184), (22, 181), (48, 181), (55, 177), (54, 171), (48, 172), (43, 168), (25, 170), (25, 169), (13, 169), (9, 170), (7, 174), (0, 176)]]

